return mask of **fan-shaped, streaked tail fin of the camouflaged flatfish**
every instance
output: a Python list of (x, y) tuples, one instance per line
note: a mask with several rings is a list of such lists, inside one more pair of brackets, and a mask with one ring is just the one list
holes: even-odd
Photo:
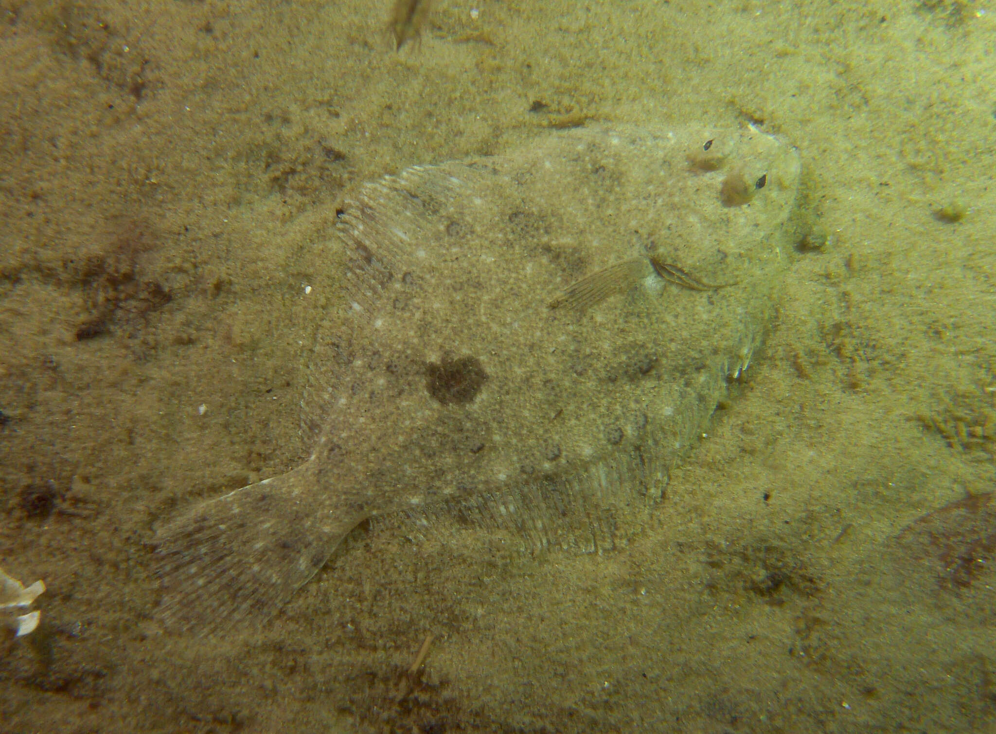
[(362, 518), (337, 517), (309, 465), (198, 506), (154, 540), (167, 626), (209, 633), (262, 623)]

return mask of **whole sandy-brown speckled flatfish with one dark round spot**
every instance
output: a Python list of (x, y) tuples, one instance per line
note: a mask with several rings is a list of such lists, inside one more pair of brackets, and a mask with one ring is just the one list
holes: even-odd
[(160, 617), (265, 620), (372, 517), (613, 548), (750, 363), (799, 172), (753, 127), (615, 126), (365, 184), (314, 452), (158, 530)]

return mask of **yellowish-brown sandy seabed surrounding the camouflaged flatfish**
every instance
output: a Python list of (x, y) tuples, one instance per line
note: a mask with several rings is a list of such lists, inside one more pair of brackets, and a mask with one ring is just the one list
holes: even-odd
[[(0, 0), (0, 565), (48, 584), (0, 728), (994, 730), (996, 7), (390, 11)], [(585, 118), (784, 136), (829, 234), (650, 527), (364, 526), (262, 631), (162, 633), (153, 524), (307, 454), (337, 202)]]

